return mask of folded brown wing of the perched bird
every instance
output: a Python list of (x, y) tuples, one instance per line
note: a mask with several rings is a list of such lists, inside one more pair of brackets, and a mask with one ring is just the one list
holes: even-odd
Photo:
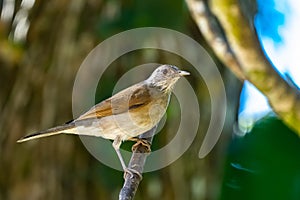
[(89, 111), (81, 115), (78, 120), (89, 118), (101, 118), (127, 112), (130, 109), (146, 105), (151, 101), (151, 95), (144, 82), (137, 83), (126, 88), (109, 99), (93, 106)]

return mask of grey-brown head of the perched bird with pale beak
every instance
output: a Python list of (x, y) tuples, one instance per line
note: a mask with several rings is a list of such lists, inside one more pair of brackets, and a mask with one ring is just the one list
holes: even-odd
[(182, 71), (176, 66), (161, 65), (152, 72), (146, 81), (150, 87), (158, 88), (161, 91), (169, 91), (173, 89), (180, 77), (187, 75), (190, 75), (190, 73)]

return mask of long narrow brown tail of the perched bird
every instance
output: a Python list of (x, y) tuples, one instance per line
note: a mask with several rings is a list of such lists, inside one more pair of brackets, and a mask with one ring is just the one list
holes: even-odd
[(58, 135), (61, 133), (75, 134), (75, 132), (76, 132), (75, 129), (76, 129), (75, 123), (64, 124), (61, 126), (56, 126), (54, 128), (47, 129), (45, 131), (26, 135), (26, 136), (20, 138), (17, 142), (18, 143), (26, 142), (28, 140), (38, 139), (38, 138), (42, 138), (42, 137), (48, 137), (48, 136), (52, 136), (52, 135)]

